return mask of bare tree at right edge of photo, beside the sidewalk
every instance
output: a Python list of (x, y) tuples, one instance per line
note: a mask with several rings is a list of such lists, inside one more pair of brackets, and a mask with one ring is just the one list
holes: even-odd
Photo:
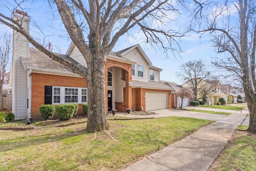
[(206, 28), (217, 52), (223, 58), (213, 62), (218, 68), (242, 80), (250, 123), (248, 131), (256, 132), (256, 1), (235, 0), (212, 2), (215, 6), (206, 16)]

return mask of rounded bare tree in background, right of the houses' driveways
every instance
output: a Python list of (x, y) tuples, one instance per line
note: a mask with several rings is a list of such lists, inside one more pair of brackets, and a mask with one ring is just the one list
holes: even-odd
[[(195, 100), (204, 98), (207, 94), (214, 92), (220, 83), (217, 76), (212, 75), (213, 71), (208, 70), (208, 66), (200, 59), (188, 61), (180, 65), (180, 71), (176, 76), (183, 80), (194, 91)], [(212, 84), (217, 82), (217, 84)]]

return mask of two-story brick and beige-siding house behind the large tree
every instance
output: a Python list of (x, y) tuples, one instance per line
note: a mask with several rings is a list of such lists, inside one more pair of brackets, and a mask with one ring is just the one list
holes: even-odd
[[(30, 18), (17, 12), (29, 30)], [(88, 102), (87, 83), (84, 78), (52, 60), (14, 32), (12, 83), (12, 112), (15, 119), (41, 119), (39, 106), (43, 104), (78, 103), (77, 115), (82, 115), (82, 104)], [(78, 65), (86, 62), (72, 43), (66, 53), (57, 54)], [(152, 63), (139, 45), (119, 52), (111, 52), (105, 66), (106, 113), (108, 109), (124, 112), (171, 108), (172, 88), (160, 82), (160, 68)]]

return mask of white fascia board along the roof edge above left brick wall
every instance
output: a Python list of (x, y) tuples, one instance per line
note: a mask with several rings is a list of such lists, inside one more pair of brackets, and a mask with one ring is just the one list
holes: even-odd
[(78, 74), (71, 73), (71, 72), (61, 72), (61, 71), (46, 70), (46, 69), (31, 68), (31, 67), (24, 67), (24, 68), (25, 68), (25, 70), (32, 70), (32, 73), (83, 78), (82, 76), (80, 76)]

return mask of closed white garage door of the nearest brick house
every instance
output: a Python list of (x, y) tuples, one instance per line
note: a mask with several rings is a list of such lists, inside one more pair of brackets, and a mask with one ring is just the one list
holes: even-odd
[(146, 92), (146, 111), (167, 109), (167, 93)]

